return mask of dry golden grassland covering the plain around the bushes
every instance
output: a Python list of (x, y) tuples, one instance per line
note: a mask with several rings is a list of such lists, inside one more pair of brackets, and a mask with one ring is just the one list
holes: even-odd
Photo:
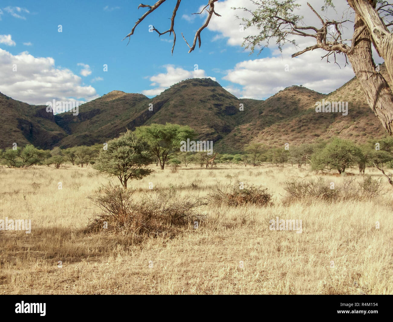
[[(209, 204), (198, 229), (190, 223), (173, 239), (127, 245), (124, 236), (83, 232), (100, 212), (86, 197), (117, 178), (90, 166), (2, 168), (0, 219), (31, 219), (32, 230), (0, 231), (0, 294), (393, 294), (393, 190), (385, 178), (386, 194), (372, 201), (285, 206), (286, 180), (323, 177), (340, 186), (344, 178), (290, 165), (153, 168), (129, 183), (134, 197), (149, 182), (172, 186), (178, 197), (204, 197), (217, 182), (239, 180), (266, 186), (274, 204)], [(380, 178), (374, 169), (367, 174)], [(276, 217), (302, 219), (302, 233), (270, 230)]]

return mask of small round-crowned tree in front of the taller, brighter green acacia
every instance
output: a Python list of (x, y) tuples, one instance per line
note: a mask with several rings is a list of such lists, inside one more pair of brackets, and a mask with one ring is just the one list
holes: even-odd
[(147, 166), (152, 162), (149, 145), (127, 131), (108, 142), (108, 149), (101, 150), (93, 169), (118, 177), (127, 189), (129, 179), (140, 180), (153, 170)]

